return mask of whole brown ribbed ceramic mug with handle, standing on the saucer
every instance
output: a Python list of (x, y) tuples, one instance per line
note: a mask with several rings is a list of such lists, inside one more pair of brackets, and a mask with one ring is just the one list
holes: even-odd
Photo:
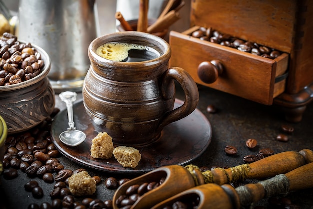
[[(112, 61), (96, 49), (109, 42), (148, 46), (156, 58), (139, 62)], [(194, 111), (199, 100), (196, 83), (179, 67), (168, 69), (169, 44), (155, 35), (116, 32), (93, 40), (91, 61), (83, 85), (83, 101), (96, 131), (107, 132), (114, 144), (141, 146), (161, 137), (162, 129)], [(185, 93), (182, 106), (173, 109), (176, 80)]]

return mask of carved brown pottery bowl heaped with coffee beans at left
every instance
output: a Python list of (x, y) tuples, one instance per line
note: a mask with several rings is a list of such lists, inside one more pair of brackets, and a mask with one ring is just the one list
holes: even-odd
[(55, 94), (47, 77), (50, 68), (42, 48), (10, 33), (0, 38), (0, 113), (8, 134), (28, 130), (52, 113)]

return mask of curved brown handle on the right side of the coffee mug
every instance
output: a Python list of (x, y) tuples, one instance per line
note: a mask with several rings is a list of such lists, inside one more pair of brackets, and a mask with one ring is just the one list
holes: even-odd
[(180, 107), (165, 114), (158, 126), (159, 130), (162, 130), (169, 123), (180, 120), (191, 114), (199, 102), (199, 91), (195, 81), (187, 71), (180, 67), (172, 67), (163, 73), (161, 93), (164, 98), (168, 98), (167, 88), (170, 82), (173, 81), (172, 79), (176, 80), (182, 87), (185, 94), (185, 101)]

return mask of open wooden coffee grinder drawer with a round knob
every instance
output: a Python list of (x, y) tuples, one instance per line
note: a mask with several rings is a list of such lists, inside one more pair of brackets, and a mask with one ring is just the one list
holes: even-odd
[[(182, 67), (198, 84), (261, 104), (271, 105), (273, 98), (284, 92), (289, 54), (269, 59), (188, 35), (198, 28), (195, 26), (183, 33), (170, 32), (170, 66)], [(212, 73), (205, 72), (202, 62), (213, 63), (222, 70), (217, 72), (218, 68), (214, 68), (215, 82), (207, 83), (205, 76), (210, 77)]]

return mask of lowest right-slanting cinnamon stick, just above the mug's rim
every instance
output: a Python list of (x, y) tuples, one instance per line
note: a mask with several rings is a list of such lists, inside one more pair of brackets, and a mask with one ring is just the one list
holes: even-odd
[(168, 29), (170, 25), (179, 20), (180, 14), (175, 10), (170, 11), (164, 17), (158, 18), (155, 23), (148, 27), (148, 33), (160, 32)]

